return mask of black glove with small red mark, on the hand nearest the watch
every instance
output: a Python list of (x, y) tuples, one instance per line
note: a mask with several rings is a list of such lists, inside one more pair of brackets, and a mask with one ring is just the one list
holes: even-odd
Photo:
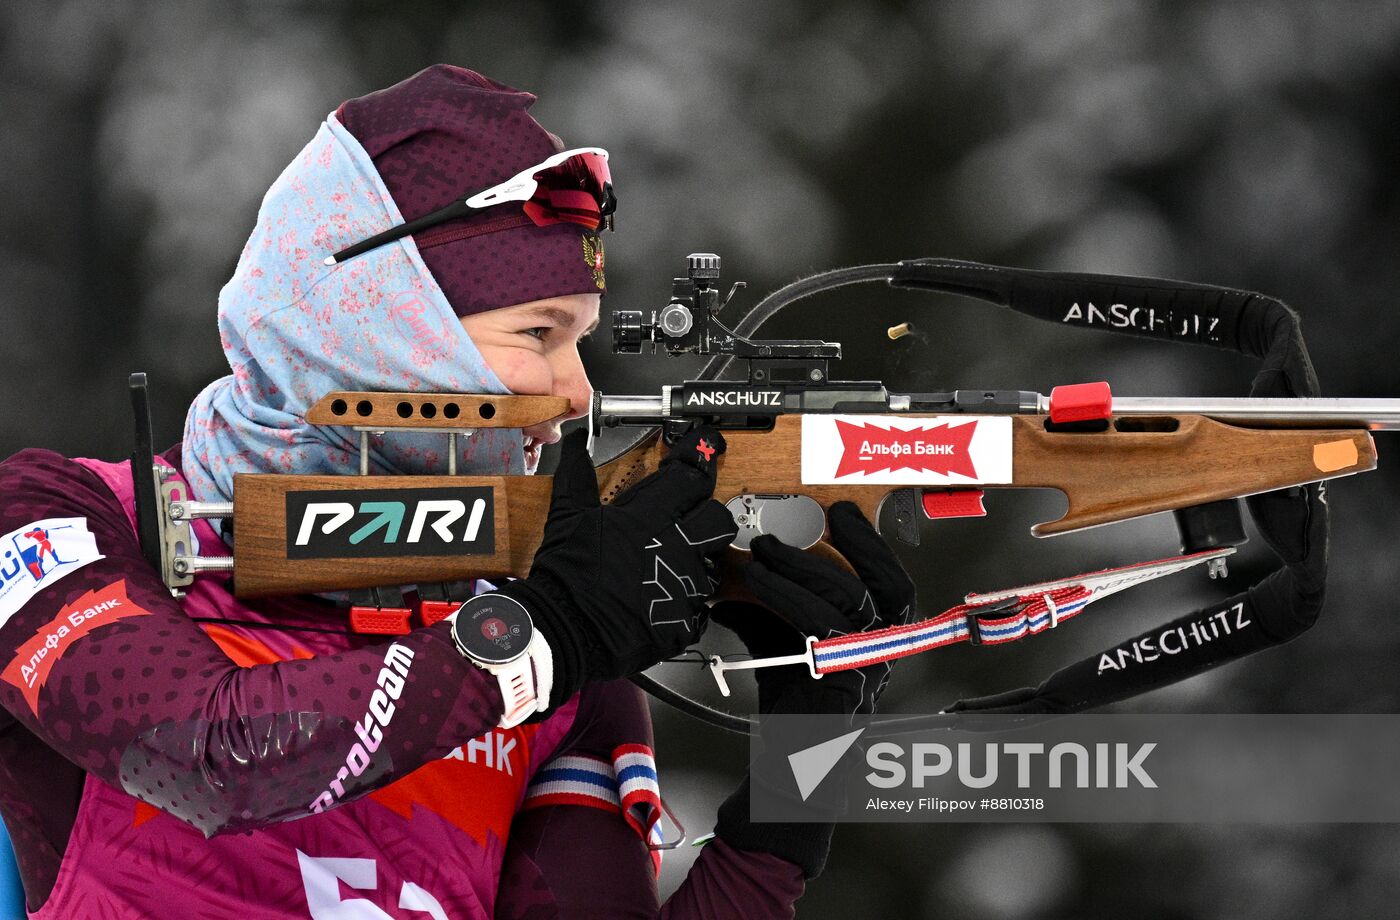
[(498, 591), (529, 611), (549, 643), (550, 709), (589, 681), (638, 674), (700, 639), (706, 598), (718, 585), (710, 557), (738, 534), (710, 499), (725, 448), (714, 428), (680, 438), (657, 472), (608, 506), (587, 437), (564, 438), (529, 576)]

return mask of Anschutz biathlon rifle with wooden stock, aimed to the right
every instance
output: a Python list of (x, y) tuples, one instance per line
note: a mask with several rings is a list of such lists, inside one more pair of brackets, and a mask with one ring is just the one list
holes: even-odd
[[(829, 364), (840, 358), (839, 343), (753, 337), (773, 314), (802, 297), (871, 280), (988, 300), (1068, 325), (1233, 347), (1263, 357), (1266, 370), (1292, 368), (1313, 392), (1119, 398), (1106, 382), (1093, 382), (1060, 386), (1049, 396), (990, 389), (895, 393), (881, 381), (833, 381)], [(1033, 527), (1035, 535), (1172, 511), (1182, 555), (1130, 569), (1155, 577), (1187, 567), (1180, 564), (1187, 560), (1207, 564), (1215, 577), (1246, 539), (1239, 499), (1373, 469), (1371, 433), (1400, 428), (1397, 399), (1316, 398), (1296, 315), (1250, 291), (920, 259), (797, 281), (731, 329), (717, 314), (741, 288), (736, 284), (721, 304), (720, 258), (696, 253), (686, 276), (673, 279), (664, 308), (613, 312), (616, 353), (636, 354), (650, 343), (652, 353), (659, 347), (711, 361), (699, 378), (662, 386), (659, 395), (595, 393), (588, 420), (591, 433), (644, 431), (598, 468), (603, 501), (652, 472), (668, 444), (690, 427), (724, 430), (729, 447), (718, 465), (715, 499), (739, 525), (728, 550), (731, 569), (742, 564), (759, 534), (840, 559), (822, 542), (825, 508), (834, 501), (854, 501), (875, 522), (890, 503), (893, 536), (918, 545), (920, 517), (981, 515), (986, 489), (1051, 487), (1065, 494), (1068, 511)], [(746, 378), (718, 379), (735, 358), (746, 363)], [(179, 500), (157, 476), (164, 494), (155, 515), (162, 577), (178, 592), (200, 571), (232, 570), (235, 594), (244, 598), (452, 583), (466, 573), (524, 577), (543, 532), (550, 478), (456, 476), (456, 440), (483, 427), (539, 424), (566, 410), (567, 400), (552, 396), (328, 393), (307, 420), (358, 434), (358, 478), (239, 475), (232, 503), (206, 504)], [(370, 433), (395, 430), (448, 438), (445, 475), (370, 479)], [(193, 545), (182, 528), (204, 517), (232, 517), (232, 559), (171, 552)], [(1107, 573), (1096, 574), (1103, 581)], [(1089, 591), (1091, 581), (1086, 576), (1075, 584)], [(1121, 587), (1121, 580), (1113, 584)], [(1063, 587), (1028, 585), (1009, 597), (1043, 598), (1053, 626), (1054, 592)], [(963, 612), (972, 623), (963, 636), (972, 641), (984, 615), (1009, 609), (1007, 592), (981, 597), (981, 608), (970, 599), (973, 613)], [(1023, 620), (1028, 609), (1021, 605)], [(407, 629), (406, 613), (393, 620), (393, 630)], [(1032, 625), (1026, 632), (1039, 630)], [(811, 644), (804, 661), (816, 676)], [(725, 692), (722, 671), (729, 667), (756, 665), (711, 661)]]

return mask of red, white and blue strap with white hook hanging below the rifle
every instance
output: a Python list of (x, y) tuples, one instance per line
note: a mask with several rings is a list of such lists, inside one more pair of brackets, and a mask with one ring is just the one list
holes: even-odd
[(963, 604), (917, 623), (822, 640), (808, 637), (806, 651), (792, 655), (746, 661), (725, 661), (720, 655), (713, 655), (710, 672), (720, 685), (720, 692), (729, 696), (725, 671), (805, 664), (812, 676), (819, 678), (823, 674), (864, 668), (960, 641), (986, 646), (1011, 643), (1054, 629), (1089, 604), (1112, 594), (1233, 552), (1233, 548), (1212, 549), (1019, 588), (969, 594)]

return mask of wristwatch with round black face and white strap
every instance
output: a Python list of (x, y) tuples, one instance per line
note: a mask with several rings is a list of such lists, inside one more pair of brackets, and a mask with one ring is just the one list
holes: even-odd
[(519, 601), (504, 594), (479, 594), (448, 619), (462, 657), (494, 674), (501, 683), (505, 702), (501, 728), (549, 709), (553, 655)]

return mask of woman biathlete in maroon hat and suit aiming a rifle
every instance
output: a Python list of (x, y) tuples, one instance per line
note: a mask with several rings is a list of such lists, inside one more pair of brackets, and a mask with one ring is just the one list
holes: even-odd
[[(192, 499), (230, 501), (237, 473), (353, 472), (354, 433), (305, 420), (336, 389), (588, 410), (577, 346), (605, 290), (610, 175), (533, 101), (434, 66), (326, 118), (220, 294), (231, 374), (158, 456)], [(479, 195), (525, 171), (529, 202)], [(532, 473), (561, 420), (480, 430), (456, 469)], [(442, 473), (444, 440), (374, 437), (371, 472)], [(143, 557), (129, 462), (0, 464), (0, 815), (29, 916), (792, 916), (832, 826), (750, 822), (748, 783), (658, 903), (651, 721), (624, 678), (711, 616), (711, 560), (735, 535), (713, 499), (722, 452), (692, 431), (602, 506), (581, 434), (566, 438), (529, 576), (477, 581), (454, 616), (392, 636), (357, 632), (333, 597), (237, 599), (223, 576), (175, 599)], [(195, 535), (199, 555), (231, 553), (234, 534)], [(906, 618), (909, 577), (854, 506), (833, 508), (832, 538), (858, 576), (760, 538), (749, 581), (770, 609), (715, 616), (756, 654)], [(31, 550), (52, 564), (10, 566)], [(687, 590), (658, 594), (662, 569)], [(503, 665), (501, 641), (526, 654)], [(769, 669), (760, 707), (871, 711), (888, 672)]]

